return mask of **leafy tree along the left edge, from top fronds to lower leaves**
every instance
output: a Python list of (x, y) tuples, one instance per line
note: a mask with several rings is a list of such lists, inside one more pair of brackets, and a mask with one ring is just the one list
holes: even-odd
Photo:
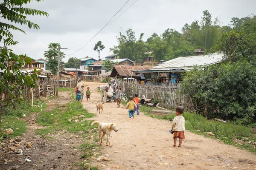
[[(41, 0), (36, 0), (40, 2)], [(39, 26), (27, 20), (26, 15), (45, 15), (47, 12), (36, 9), (23, 8), (22, 6), (30, 0), (5, 0), (0, 3), (0, 15), (3, 19), (8, 20), (8, 23), (0, 22), (0, 42), (3, 41), (4, 47), (0, 48), (0, 70), (3, 71), (0, 76), (0, 122), (1, 122), (1, 108), (2, 103), (15, 104), (21, 101), (22, 94), (25, 91), (23, 86), (28, 88), (35, 88), (37, 85), (35, 81), (38, 79), (38, 72), (34, 70), (33, 74), (25, 75), (21, 72), (21, 68), (31, 63), (29, 57), (23, 55), (16, 55), (12, 50), (7, 49), (9, 45), (16, 45), (18, 42), (13, 40), (13, 35), (10, 30), (21, 31), (20, 28), (13, 26), (10, 23), (17, 23), (20, 25), (27, 25), (29, 28), (39, 29)], [(5, 98), (2, 99), (3, 94)]]

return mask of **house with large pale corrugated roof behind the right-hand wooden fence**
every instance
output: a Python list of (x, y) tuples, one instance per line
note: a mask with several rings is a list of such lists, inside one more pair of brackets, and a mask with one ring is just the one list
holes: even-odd
[(157, 77), (158, 82), (179, 82), (181, 80), (181, 73), (191, 70), (194, 66), (207, 67), (219, 63), (223, 60), (223, 55), (212, 54), (205, 56), (190, 56), (190, 57), (178, 57), (169, 61), (163, 62), (149, 70), (137, 70), (133, 71), (135, 74), (140, 74), (144, 79), (155, 79)]

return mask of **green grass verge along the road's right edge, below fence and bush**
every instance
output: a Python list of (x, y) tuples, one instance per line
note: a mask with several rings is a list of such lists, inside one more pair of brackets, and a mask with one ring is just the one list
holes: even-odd
[[(140, 111), (153, 118), (165, 119), (169, 121), (172, 121), (172, 119), (174, 119), (176, 116), (175, 114), (156, 116), (152, 114), (152, 108), (146, 106), (141, 106)], [(207, 132), (212, 132), (215, 135), (214, 139), (220, 139), (226, 144), (236, 145), (256, 153), (254, 145), (252, 144), (253, 142), (256, 142), (256, 136), (250, 127), (238, 124), (237, 122), (229, 121), (227, 124), (224, 124), (214, 120), (208, 120), (206, 117), (196, 113), (183, 113), (182, 116), (186, 120), (186, 130), (207, 137), (211, 137), (207, 134)], [(251, 144), (249, 144), (248, 141), (251, 141)]]

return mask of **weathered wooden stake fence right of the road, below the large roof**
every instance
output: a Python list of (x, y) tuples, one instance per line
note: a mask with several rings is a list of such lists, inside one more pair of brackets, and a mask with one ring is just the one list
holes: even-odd
[(175, 109), (181, 105), (185, 111), (194, 110), (192, 98), (185, 94), (177, 93), (180, 89), (179, 83), (145, 83), (143, 85), (137, 82), (118, 81), (117, 84), (121, 86), (122, 92), (128, 94), (128, 96), (134, 96), (137, 93), (140, 98), (145, 95), (148, 99), (157, 99), (160, 107)]

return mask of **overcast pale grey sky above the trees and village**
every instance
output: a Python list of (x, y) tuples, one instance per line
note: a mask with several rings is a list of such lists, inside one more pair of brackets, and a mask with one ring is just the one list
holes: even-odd
[[(119, 14), (135, 1), (130, 0)], [(29, 16), (28, 19), (37, 23), (40, 29), (19, 26), (26, 34), (13, 32), (19, 43), (10, 48), (16, 54), (27, 54), (39, 59), (44, 57), (44, 51), (47, 51), (50, 42), (58, 42), (62, 48), (68, 48), (62, 50), (66, 54), (65, 62), (70, 57), (89, 56), (97, 59), (98, 53), (93, 51), (95, 43), (102, 41), (105, 49), (101, 52), (101, 57), (106, 57), (111, 54), (109, 48), (117, 44), (116, 36), (119, 31), (128, 28), (135, 31), (137, 38), (140, 33), (145, 33), (146, 40), (152, 33), (160, 35), (167, 28), (180, 31), (185, 23), (191, 24), (194, 20), (200, 20), (204, 10), (208, 10), (213, 19), (220, 17), (222, 25), (229, 24), (232, 17), (241, 18), (256, 12), (256, 0), (138, 0), (84, 48), (72, 54), (85, 45), (85, 41), (93, 37), (126, 2), (127, 0), (32, 2), (26, 7), (47, 11), (49, 17)]]

